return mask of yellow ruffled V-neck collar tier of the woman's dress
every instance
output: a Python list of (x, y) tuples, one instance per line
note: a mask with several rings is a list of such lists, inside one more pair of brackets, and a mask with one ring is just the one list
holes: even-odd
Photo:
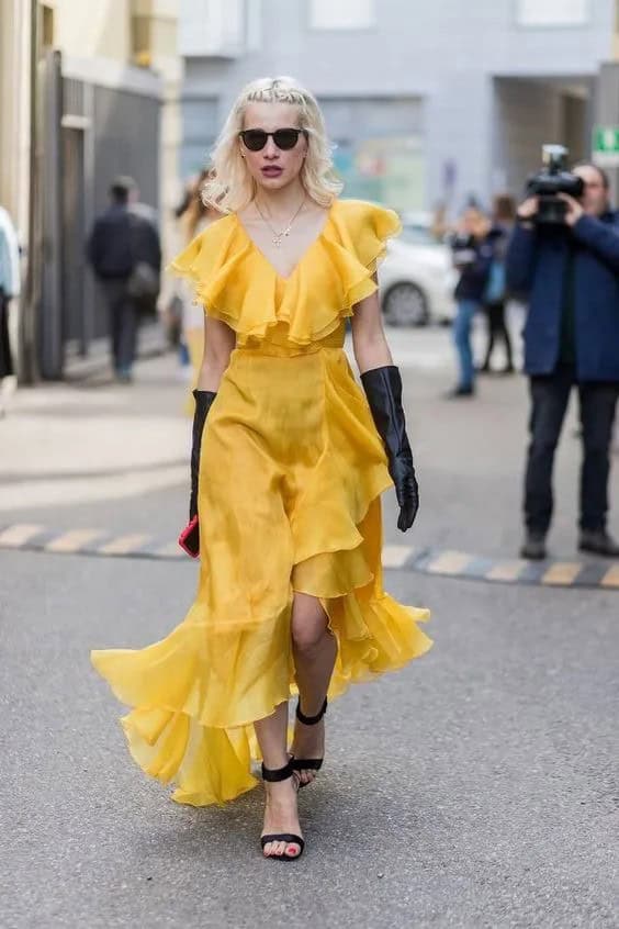
[(278, 273), (236, 214), (199, 235), (172, 262), (189, 277), (210, 316), (237, 333), (237, 345), (263, 339), (279, 324), (288, 340), (320, 342), (376, 290), (373, 275), (386, 239), (399, 232), (391, 210), (358, 200), (336, 200), (325, 224), (291, 275)]

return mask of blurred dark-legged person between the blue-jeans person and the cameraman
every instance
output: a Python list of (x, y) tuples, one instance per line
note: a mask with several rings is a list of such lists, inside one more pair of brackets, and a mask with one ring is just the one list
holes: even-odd
[(505, 254), (514, 220), (516, 217), (516, 204), (508, 194), (502, 193), (494, 198), (492, 212), (492, 228), (488, 239), (493, 246), (488, 280), (484, 293), (484, 311), (487, 316), (488, 340), (483, 365), (479, 370), (486, 374), (492, 370), (491, 360), (497, 338), (503, 340), (505, 346), (506, 365), (502, 373), (514, 372), (514, 354), (511, 339), (505, 321), (505, 304), (507, 291), (505, 287)]

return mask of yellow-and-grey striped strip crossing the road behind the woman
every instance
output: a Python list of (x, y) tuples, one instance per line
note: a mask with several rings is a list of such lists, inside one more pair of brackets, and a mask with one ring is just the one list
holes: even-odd
[[(146, 533), (112, 534), (91, 528), (53, 530), (35, 523), (0, 527), (0, 549), (192, 563), (176, 541)], [(455, 549), (420, 551), (405, 545), (386, 545), (383, 568), (500, 584), (619, 590), (619, 562), (603, 559), (525, 561), (484, 558)]]

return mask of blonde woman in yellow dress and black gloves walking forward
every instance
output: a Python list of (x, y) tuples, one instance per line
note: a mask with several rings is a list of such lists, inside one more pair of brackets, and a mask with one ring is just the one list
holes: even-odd
[[(173, 262), (205, 311), (198, 596), (162, 641), (92, 660), (133, 707), (133, 757), (176, 782), (179, 803), (232, 801), (262, 759), (262, 853), (290, 861), (304, 848), (296, 795), (323, 763), (327, 698), (430, 646), (416, 625), (427, 611), (396, 603), (381, 573), (380, 494), (395, 484), (403, 531), (418, 507), (375, 282), (399, 225), (337, 199), (320, 111), (289, 78), (244, 89), (214, 167), (204, 199), (226, 215)], [(342, 350), (347, 317), (364, 393)]]

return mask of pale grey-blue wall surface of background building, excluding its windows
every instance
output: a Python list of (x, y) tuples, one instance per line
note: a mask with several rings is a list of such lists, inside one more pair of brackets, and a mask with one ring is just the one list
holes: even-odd
[[(610, 55), (615, 30), (612, 0), (592, 0), (585, 26), (556, 29), (519, 26), (515, 0), (380, 0), (375, 26), (360, 31), (312, 30), (310, 0), (252, 3), (261, 12), (258, 48), (238, 58), (187, 59), (185, 98), (209, 101), (202, 147), (213, 135), (213, 101), (221, 124), (240, 87), (258, 76), (292, 74), (334, 105), (338, 99), (415, 99), (423, 101), (428, 201), (444, 193), (448, 163), (455, 169), (454, 202), (471, 191), (489, 193), (495, 77), (595, 75)], [(543, 102), (533, 121), (541, 124), (549, 108)], [(184, 112), (187, 150), (195, 153), (202, 144), (196, 110)], [(337, 137), (333, 119), (329, 128)], [(529, 144), (532, 150), (532, 142), (525, 147)], [(525, 157), (528, 153), (519, 159)], [(516, 176), (519, 168), (508, 170)]]

